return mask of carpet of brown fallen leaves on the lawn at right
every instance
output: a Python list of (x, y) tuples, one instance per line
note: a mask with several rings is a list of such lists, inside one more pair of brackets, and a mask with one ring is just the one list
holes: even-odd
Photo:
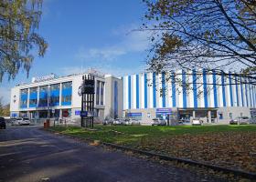
[(256, 133), (218, 132), (147, 138), (144, 148), (173, 157), (256, 172)]

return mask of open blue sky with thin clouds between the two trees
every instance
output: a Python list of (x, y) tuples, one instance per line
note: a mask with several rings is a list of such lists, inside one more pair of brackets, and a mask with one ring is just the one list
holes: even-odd
[(48, 42), (44, 57), (35, 56), (29, 76), (20, 70), (0, 83), (9, 103), (11, 87), (34, 76), (68, 76), (89, 67), (114, 76), (143, 72), (150, 41), (136, 31), (146, 11), (142, 0), (44, 0), (38, 33)]

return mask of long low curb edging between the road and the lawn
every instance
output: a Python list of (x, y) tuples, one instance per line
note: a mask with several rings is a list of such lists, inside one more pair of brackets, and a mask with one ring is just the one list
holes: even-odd
[[(57, 131), (54, 131), (54, 130), (51, 130), (51, 129), (48, 129), (46, 131), (49, 131), (49, 132), (52, 132), (52, 133), (59, 133), (60, 135), (71, 136), (71, 137), (79, 138), (79, 139), (86, 140), (86, 141), (91, 141), (91, 142), (94, 141), (93, 139), (90, 139), (90, 138), (85, 138), (85, 137), (82, 137), (82, 136), (73, 136), (73, 135), (70, 135), (70, 134), (63, 134), (61, 132), (57, 132)], [(239, 177), (246, 177), (246, 178), (249, 178), (249, 179), (256, 179), (256, 173), (231, 169), (231, 168), (227, 168), (227, 167), (219, 167), (219, 166), (216, 166), (216, 165), (209, 165), (209, 164), (204, 163), (204, 162), (197, 162), (197, 161), (190, 160), (190, 159), (184, 159), (184, 158), (179, 158), (179, 157), (170, 157), (170, 156), (166, 156), (166, 155), (156, 154), (154, 152), (140, 150), (140, 149), (133, 148), (133, 147), (123, 147), (123, 146), (119, 146), (119, 145), (112, 144), (112, 143), (107, 143), (107, 142), (101, 142), (101, 144), (103, 144), (105, 146), (115, 147), (115, 148), (122, 149), (122, 150), (132, 151), (132, 152), (137, 153), (137, 154), (143, 154), (143, 155), (148, 156), (148, 157), (158, 157), (162, 160), (176, 161), (176, 162), (185, 163), (185, 164), (188, 164), (188, 165), (194, 165), (194, 166), (197, 166), (197, 167), (208, 167), (210, 169), (213, 169), (213, 170), (216, 170), (216, 171), (219, 171), (219, 172), (223, 172), (223, 173), (226, 173), (226, 174), (231, 173), (231, 174), (233, 174), (235, 176), (239, 176)]]

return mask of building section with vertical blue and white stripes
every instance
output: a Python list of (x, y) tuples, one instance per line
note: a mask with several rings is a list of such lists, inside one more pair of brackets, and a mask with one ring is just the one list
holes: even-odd
[(191, 122), (229, 122), (255, 110), (256, 88), (248, 78), (205, 70), (173, 73), (143, 73), (123, 76), (123, 110), (149, 122), (152, 118), (174, 118)]

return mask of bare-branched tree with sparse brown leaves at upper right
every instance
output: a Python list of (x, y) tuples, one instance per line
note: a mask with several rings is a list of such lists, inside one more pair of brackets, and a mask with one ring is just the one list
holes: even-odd
[(142, 30), (154, 33), (148, 60), (152, 71), (205, 68), (255, 78), (254, 0), (144, 2)]

